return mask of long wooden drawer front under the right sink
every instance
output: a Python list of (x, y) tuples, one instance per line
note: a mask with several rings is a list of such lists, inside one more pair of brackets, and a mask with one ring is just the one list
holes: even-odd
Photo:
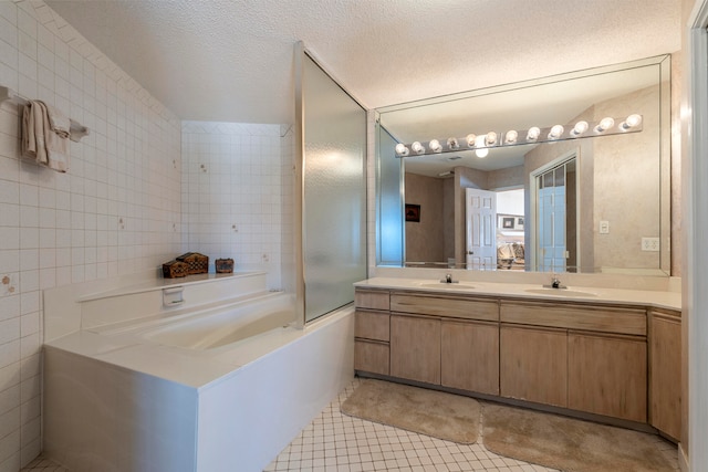
[(504, 323), (646, 336), (646, 311), (596, 305), (502, 302)]

